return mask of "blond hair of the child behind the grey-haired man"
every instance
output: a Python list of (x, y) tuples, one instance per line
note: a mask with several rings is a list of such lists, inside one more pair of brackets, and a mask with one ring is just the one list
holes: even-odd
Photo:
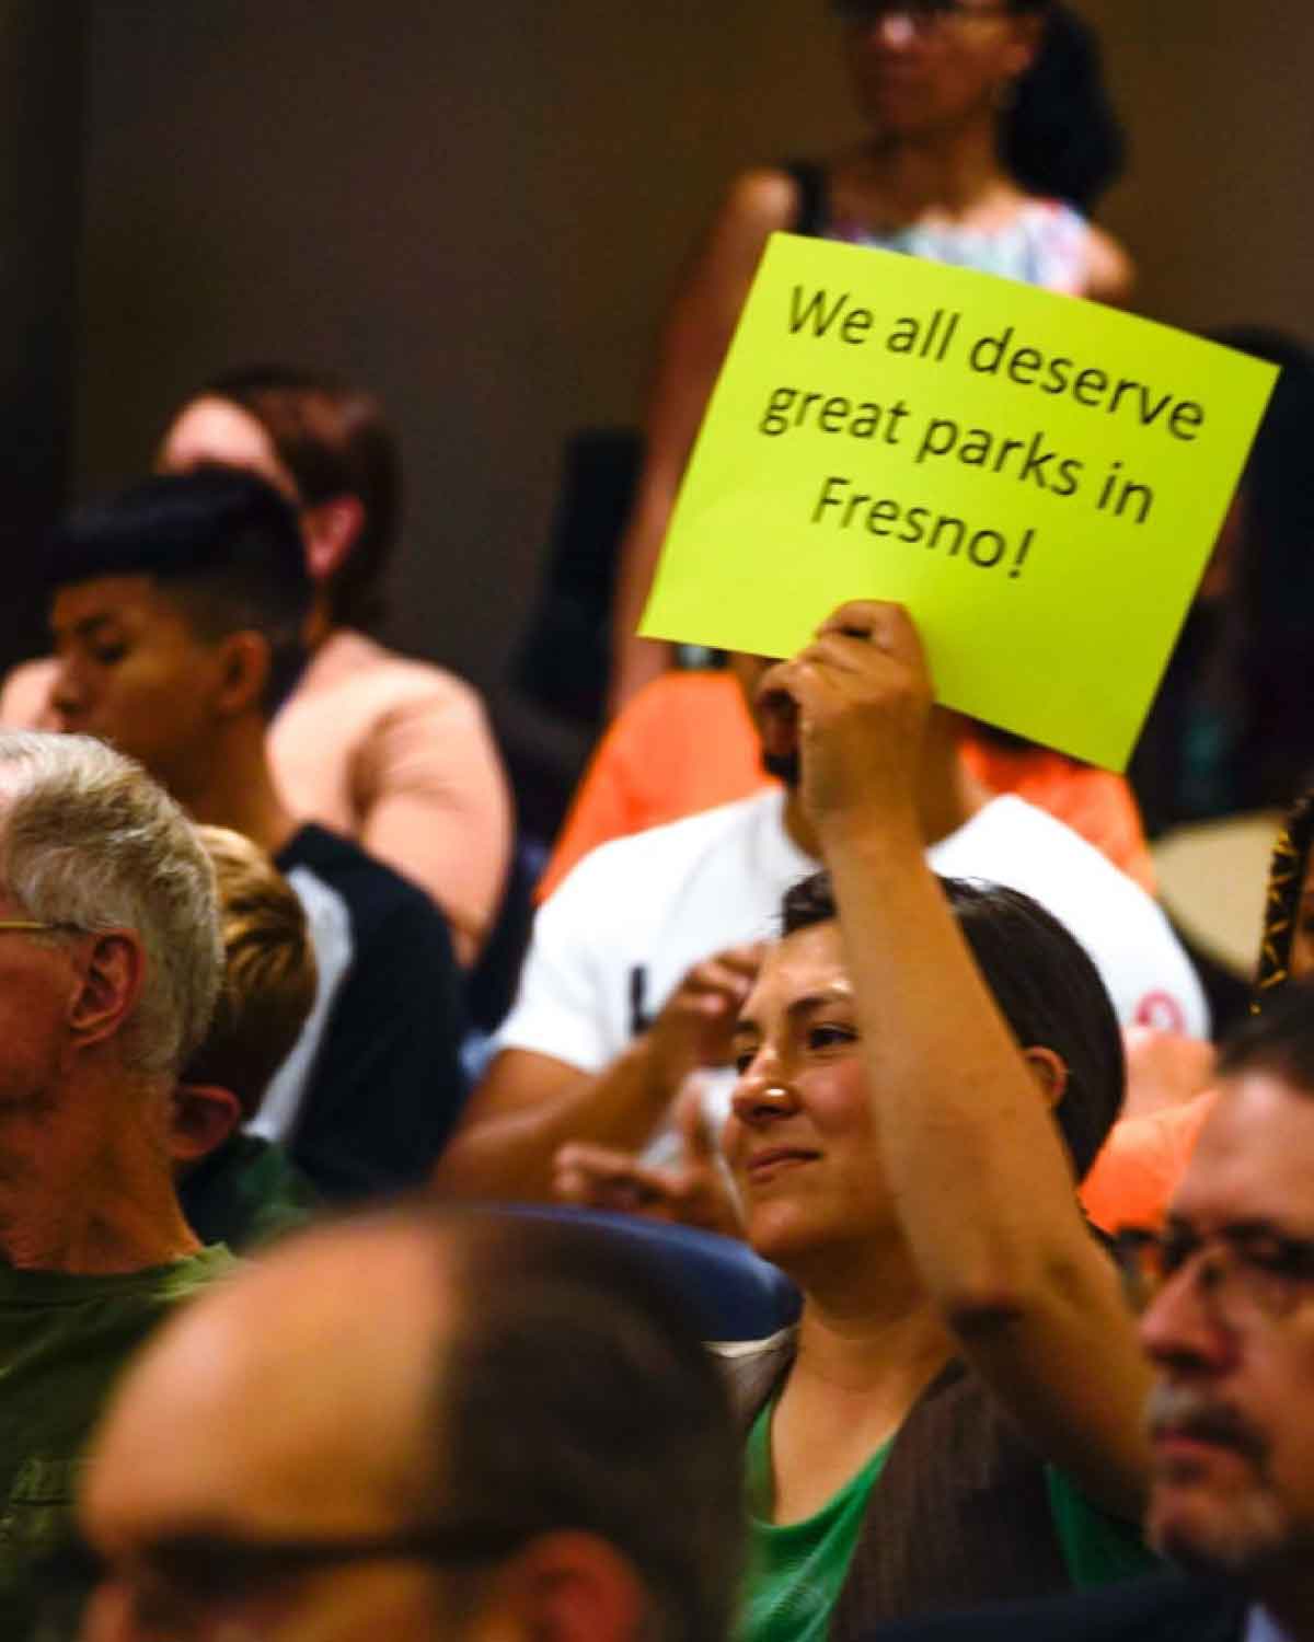
[(222, 826), (197, 834), (218, 883), (225, 964), (210, 1030), (182, 1077), (230, 1090), (250, 1123), (315, 1002), (315, 949), (296, 892), (258, 844)]

